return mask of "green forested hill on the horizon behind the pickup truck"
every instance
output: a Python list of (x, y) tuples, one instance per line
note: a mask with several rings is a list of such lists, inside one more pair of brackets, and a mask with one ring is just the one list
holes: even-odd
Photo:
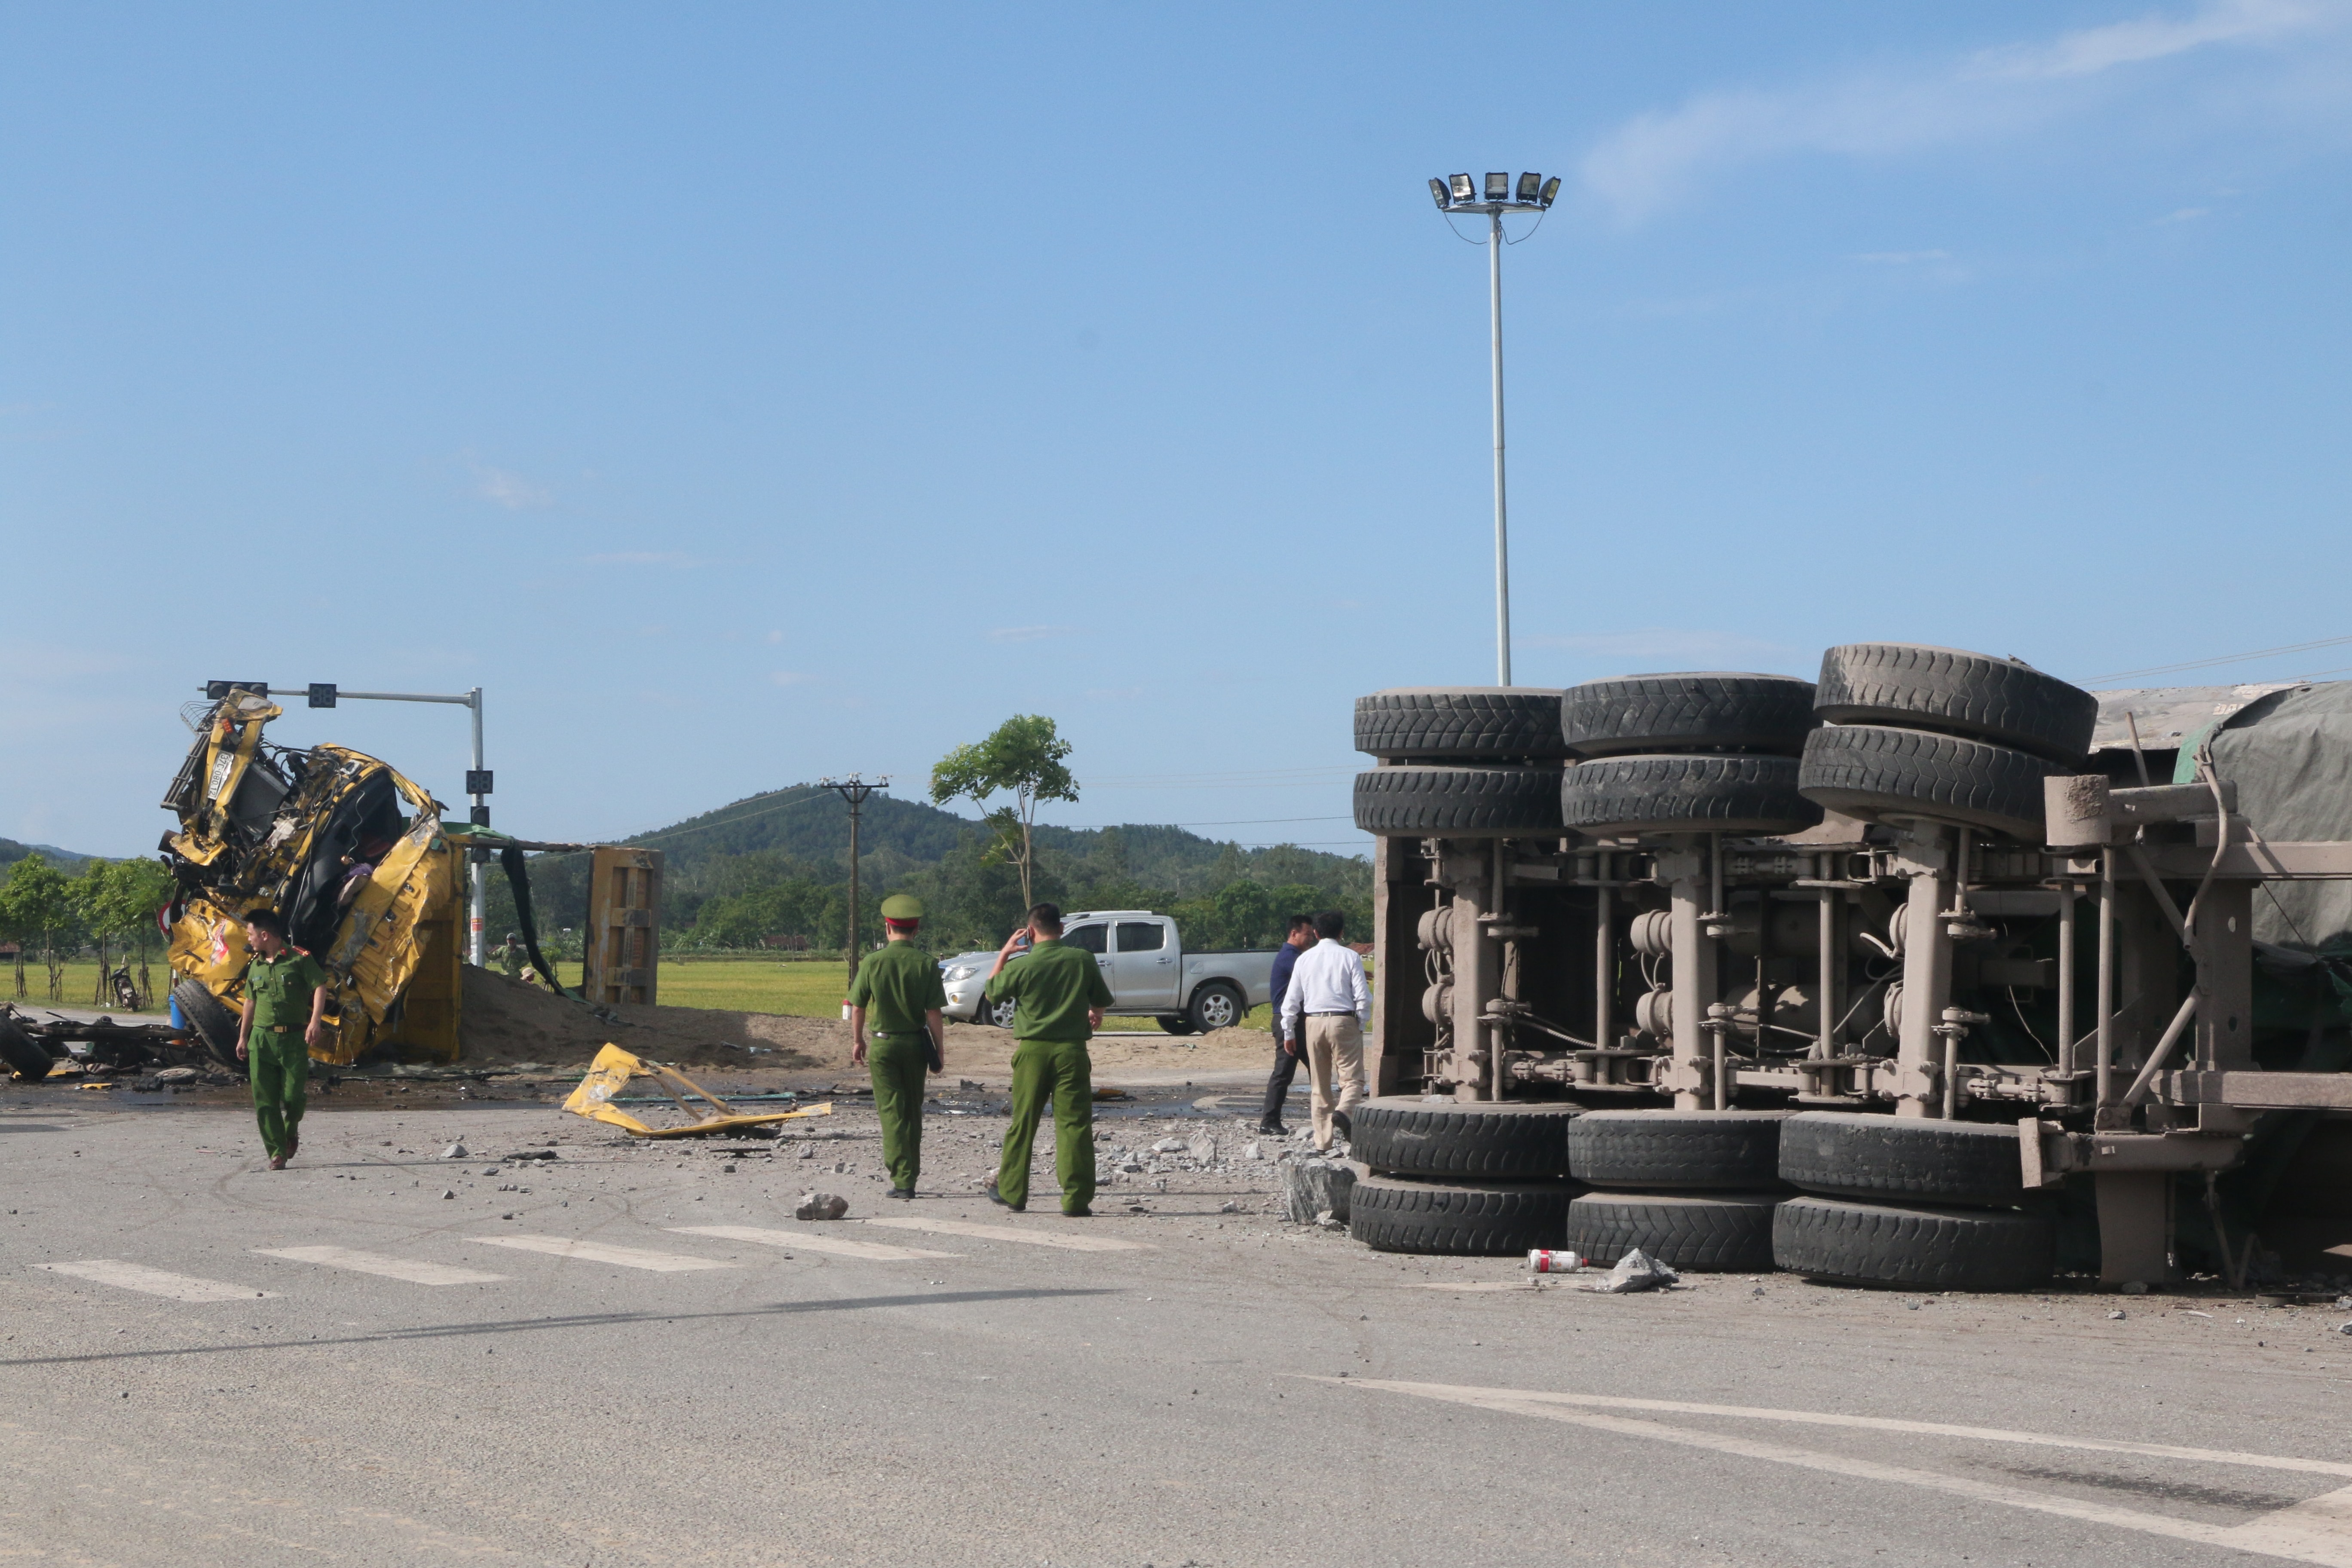
[[(739, 799), (626, 839), (663, 851), (663, 947), (748, 947), (847, 936), (849, 809), (821, 785)], [(929, 907), (934, 947), (995, 945), (1021, 912), (1009, 865), (983, 865), (990, 830), (927, 802), (870, 795), (858, 827), (861, 926), (880, 936), (875, 905), (910, 891)], [(546, 929), (586, 914), (586, 856), (536, 856), (532, 900)], [(501, 879), (489, 922), (513, 924)], [(1338, 907), (1369, 922), (1371, 865), (1294, 844), (1240, 849), (1167, 825), (1040, 827), (1035, 896), (1065, 907), (1148, 907), (1185, 919), (1195, 945), (1258, 947), (1289, 910)]]

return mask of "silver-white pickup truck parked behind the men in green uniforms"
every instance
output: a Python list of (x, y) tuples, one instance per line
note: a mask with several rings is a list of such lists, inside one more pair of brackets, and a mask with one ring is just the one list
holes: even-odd
[[(1061, 940), (1094, 954), (1110, 983), (1112, 1013), (1148, 1013), (1169, 1034), (1207, 1034), (1242, 1023), (1265, 1006), (1275, 978), (1275, 950), (1185, 952), (1176, 922), (1150, 910), (1080, 910), (1061, 917)], [(993, 1023), (1009, 1030), (1014, 1004), (990, 1006), (981, 990), (995, 966), (993, 952), (960, 952), (938, 961), (948, 985), (948, 1018)], [(1011, 959), (1018, 964), (1021, 959)]]

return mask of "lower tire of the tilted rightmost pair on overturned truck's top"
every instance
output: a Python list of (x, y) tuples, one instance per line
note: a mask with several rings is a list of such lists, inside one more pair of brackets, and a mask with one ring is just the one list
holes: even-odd
[(2039, 844), (2042, 780), (2063, 771), (2013, 745), (1926, 729), (1837, 724), (1806, 736), (1797, 788), (1809, 802), (1865, 823), (1931, 816)]

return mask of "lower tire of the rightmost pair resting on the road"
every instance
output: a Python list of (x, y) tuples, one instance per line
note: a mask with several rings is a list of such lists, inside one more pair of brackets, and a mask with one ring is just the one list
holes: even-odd
[(1788, 1199), (1771, 1220), (1773, 1262), (1795, 1274), (1926, 1291), (2039, 1291), (2058, 1229), (2013, 1208), (1891, 1208)]

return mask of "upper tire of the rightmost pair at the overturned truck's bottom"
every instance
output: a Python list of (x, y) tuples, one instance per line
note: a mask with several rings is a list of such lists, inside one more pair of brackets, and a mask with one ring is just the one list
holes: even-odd
[(1809, 1110), (1780, 1126), (1780, 1180), (1872, 1201), (2011, 1208), (2025, 1201), (2011, 1121), (1919, 1121)]

